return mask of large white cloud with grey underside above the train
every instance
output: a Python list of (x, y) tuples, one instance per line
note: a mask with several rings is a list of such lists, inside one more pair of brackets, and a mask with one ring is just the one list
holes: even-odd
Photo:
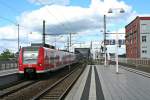
[(46, 20), (47, 31), (59, 34), (96, 28), (97, 20), (92, 17), (88, 8), (53, 5), (22, 14), (20, 22), (34, 31), (40, 31), (42, 21)]

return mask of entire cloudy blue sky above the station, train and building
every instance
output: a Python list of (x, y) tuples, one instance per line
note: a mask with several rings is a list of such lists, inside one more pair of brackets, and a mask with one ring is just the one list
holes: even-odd
[[(125, 33), (125, 26), (136, 16), (150, 16), (149, 0), (0, 0), (0, 52), (42, 42), (42, 23), (46, 22), (46, 43), (65, 49), (72, 34), (71, 50), (76, 47), (100, 47), (103, 41), (104, 15), (107, 32)], [(113, 13), (108, 13), (109, 9)], [(124, 9), (125, 13), (120, 13)], [(116, 35), (107, 35), (116, 39)], [(124, 34), (119, 34), (124, 39)], [(107, 46), (114, 53), (115, 46)], [(125, 53), (125, 46), (119, 48)]]

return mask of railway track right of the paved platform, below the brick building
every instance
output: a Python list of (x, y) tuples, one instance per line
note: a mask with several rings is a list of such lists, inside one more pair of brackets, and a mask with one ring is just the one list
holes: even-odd
[(147, 73), (147, 72), (144, 72), (144, 71), (140, 71), (140, 70), (136, 70), (136, 69), (129, 68), (129, 67), (124, 67), (124, 66), (119, 66), (119, 67), (122, 68), (122, 69), (125, 69), (127, 71), (130, 71), (130, 72), (142, 75), (144, 77), (150, 78), (150, 73)]

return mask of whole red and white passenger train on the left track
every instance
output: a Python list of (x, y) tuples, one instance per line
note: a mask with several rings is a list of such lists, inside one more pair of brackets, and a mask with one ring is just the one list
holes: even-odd
[(19, 73), (46, 73), (61, 69), (76, 62), (76, 55), (56, 50), (49, 45), (32, 44), (20, 49), (18, 59)]

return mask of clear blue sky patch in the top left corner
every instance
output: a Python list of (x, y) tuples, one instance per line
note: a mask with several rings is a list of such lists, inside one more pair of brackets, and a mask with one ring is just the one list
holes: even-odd
[(11, 24), (11, 21), (16, 22), (16, 17), (20, 16), (21, 13), (32, 11), (39, 7), (29, 3), (27, 0), (0, 0), (0, 8), (0, 17), (3, 17), (3, 19), (0, 18), (2, 22), (0, 25), (3, 26)]

